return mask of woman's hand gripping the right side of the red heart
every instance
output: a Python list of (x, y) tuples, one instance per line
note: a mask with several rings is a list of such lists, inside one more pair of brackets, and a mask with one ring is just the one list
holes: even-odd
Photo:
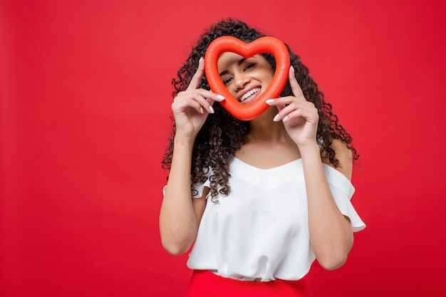
[(279, 110), (274, 121), (282, 120), (286, 132), (298, 147), (314, 144), (318, 130), (318, 110), (304, 97), (292, 66), (289, 69), (289, 83), (294, 96), (270, 99), (266, 103), (275, 105)]

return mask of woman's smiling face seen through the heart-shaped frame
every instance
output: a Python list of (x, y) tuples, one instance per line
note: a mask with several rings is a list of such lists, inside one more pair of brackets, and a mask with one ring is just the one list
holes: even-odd
[(220, 56), (217, 67), (229, 93), (243, 104), (259, 98), (274, 76), (271, 65), (261, 55), (243, 58), (226, 52)]

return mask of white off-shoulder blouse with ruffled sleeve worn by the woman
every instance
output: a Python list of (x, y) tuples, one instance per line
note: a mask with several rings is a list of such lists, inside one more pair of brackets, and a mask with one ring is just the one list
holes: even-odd
[[(353, 231), (364, 229), (350, 202), (355, 192), (351, 182), (333, 167), (323, 164), (323, 170)], [(231, 192), (219, 194), (218, 203), (207, 199), (187, 266), (246, 281), (303, 278), (316, 256), (308, 234), (301, 159), (262, 170), (234, 157), (229, 172)], [(204, 187), (209, 179), (196, 187), (196, 197)]]

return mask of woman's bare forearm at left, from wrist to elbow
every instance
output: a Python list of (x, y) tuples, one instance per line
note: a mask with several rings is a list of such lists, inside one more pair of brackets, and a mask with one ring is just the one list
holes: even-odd
[(169, 180), (160, 209), (162, 246), (171, 254), (183, 254), (197, 236), (197, 217), (190, 194), (192, 144), (175, 137)]

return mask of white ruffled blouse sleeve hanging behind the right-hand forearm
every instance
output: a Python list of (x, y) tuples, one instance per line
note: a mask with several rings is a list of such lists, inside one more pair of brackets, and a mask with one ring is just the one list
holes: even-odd
[(361, 231), (365, 228), (365, 224), (350, 201), (355, 192), (353, 184), (351, 184), (350, 180), (348, 180), (345, 175), (338, 172), (338, 170), (333, 167), (324, 164), (323, 170), (326, 174), (328, 186), (331, 189), (331, 194), (333, 195), (333, 199), (335, 200), (338, 209), (343, 215), (350, 219), (353, 232)]

